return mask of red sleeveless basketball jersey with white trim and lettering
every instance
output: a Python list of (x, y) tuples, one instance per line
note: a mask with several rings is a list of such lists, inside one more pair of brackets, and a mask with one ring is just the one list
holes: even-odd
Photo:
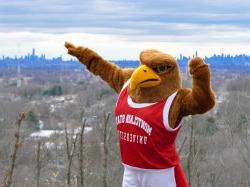
[(175, 139), (181, 127), (168, 125), (169, 109), (176, 93), (157, 103), (134, 103), (126, 83), (115, 108), (122, 162), (141, 169), (176, 166)]

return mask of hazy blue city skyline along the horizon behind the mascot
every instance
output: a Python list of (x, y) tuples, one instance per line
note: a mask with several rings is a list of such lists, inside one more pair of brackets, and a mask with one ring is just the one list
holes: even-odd
[[(180, 54), (175, 57), (179, 66), (182, 69), (186, 69), (188, 66), (189, 59), (198, 55), (198, 51), (195, 52), (192, 56), (185, 56)], [(107, 59), (108, 60), (108, 59)], [(204, 60), (208, 63), (213, 69), (227, 69), (227, 70), (240, 70), (248, 71), (250, 70), (250, 54), (241, 54), (241, 55), (230, 55), (230, 54), (213, 54), (212, 56), (205, 56)], [(139, 60), (129, 60), (129, 59), (119, 59), (116, 61), (111, 61), (118, 66), (125, 67), (137, 67), (139, 65)], [(27, 53), (24, 56), (20, 57), (0, 57), (0, 68), (31, 68), (31, 69), (41, 69), (41, 68), (55, 68), (55, 69), (78, 69), (82, 68), (81, 63), (76, 58), (63, 59), (62, 56), (57, 56), (53, 58), (46, 57), (45, 54), (36, 54), (36, 50), (33, 48), (30, 53)]]

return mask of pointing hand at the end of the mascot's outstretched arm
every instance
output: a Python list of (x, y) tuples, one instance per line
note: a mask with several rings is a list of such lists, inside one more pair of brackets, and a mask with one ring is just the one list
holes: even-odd
[(69, 42), (65, 42), (64, 46), (68, 49), (68, 54), (75, 56), (78, 58), (80, 62), (85, 64), (84, 62), (84, 53), (88, 50), (86, 47), (76, 47)]

